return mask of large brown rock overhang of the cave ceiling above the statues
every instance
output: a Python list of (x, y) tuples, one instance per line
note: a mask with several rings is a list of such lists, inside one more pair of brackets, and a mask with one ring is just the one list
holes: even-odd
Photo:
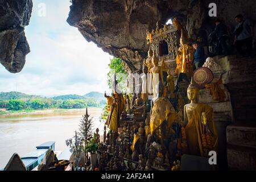
[(73, 0), (67, 22), (77, 27), (86, 40), (123, 59), (127, 70), (134, 72), (141, 64), (134, 52), (146, 58), (146, 30), (155, 28), (156, 22), (163, 24), (177, 17), (191, 38), (207, 38), (216, 19), (208, 16), (212, 2), (217, 4), (217, 18), (226, 22), (230, 32), (236, 24), (235, 15), (256, 19), (254, 0)]

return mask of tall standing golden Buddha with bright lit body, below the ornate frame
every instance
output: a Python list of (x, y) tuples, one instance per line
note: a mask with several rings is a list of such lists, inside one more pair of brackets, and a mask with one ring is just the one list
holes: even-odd
[(155, 53), (154, 53), (154, 56), (152, 57), (152, 61), (153, 61), (154, 67), (150, 69), (150, 73), (151, 73), (150, 85), (152, 85), (153, 95), (154, 97), (156, 97), (158, 92), (158, 90), (156, 90), (156, 85), (159, 83), (159, 79), (160, 79), (160, 82), (162, 82), (162, 84), (164, 85), (163, 67), (160, 67), (158, 65), (159, 59), (158, 57), (156, 57)]

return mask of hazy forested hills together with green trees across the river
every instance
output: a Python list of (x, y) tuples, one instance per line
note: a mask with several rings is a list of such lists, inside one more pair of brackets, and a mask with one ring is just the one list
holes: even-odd
[(0, 109), (29, 110), (29, 109), (82, 109), (85, 107), (104, 107), (106, 100), (103, 93), (90, 92), (84, 96), (64, 95), (42, 97), (20, 92), (1, 92)]

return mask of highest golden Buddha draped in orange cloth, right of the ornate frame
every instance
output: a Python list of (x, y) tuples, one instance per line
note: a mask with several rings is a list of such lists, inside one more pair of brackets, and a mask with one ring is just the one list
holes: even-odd
[(188, 77), (193, 73), (193, 47), (187, 44), (188, 40), (185, 40), (184, 31), (181, 30), (180, 48), (177, 51), (176, 70), (175, 73), (186, 73)]

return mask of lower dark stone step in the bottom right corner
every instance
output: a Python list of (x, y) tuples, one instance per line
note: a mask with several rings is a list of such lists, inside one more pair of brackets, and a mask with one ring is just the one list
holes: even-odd
[(230, 170), (256, 170), (255, 148), (228, 144), (226, 152)]

